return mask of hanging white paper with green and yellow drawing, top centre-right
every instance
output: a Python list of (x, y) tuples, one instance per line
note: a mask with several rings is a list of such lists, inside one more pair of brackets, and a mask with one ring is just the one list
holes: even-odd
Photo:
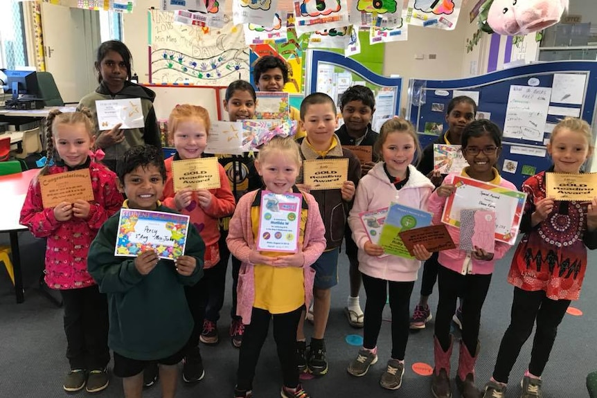
[(362, 28), (393, 28), (400, 25), (402, 0), (353, 0), (350, 23)]

